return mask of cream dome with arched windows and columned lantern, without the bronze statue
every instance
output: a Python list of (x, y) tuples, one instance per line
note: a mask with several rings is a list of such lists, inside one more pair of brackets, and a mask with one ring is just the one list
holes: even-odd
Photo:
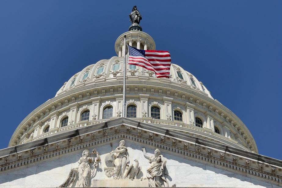
[[(20, 123), (9, 146), (122, 117), (124, 35), (137, 49), (156, 48), (143, 31), (121, 34), (114, 44), (117, 56), (69, 78), (54, 98)], [(126, 70), (126, 118), (258, 153), (246, 125), (173, 58), (170, 78), (156, 78), (153, 71), (135, 65), (127, 64)]]

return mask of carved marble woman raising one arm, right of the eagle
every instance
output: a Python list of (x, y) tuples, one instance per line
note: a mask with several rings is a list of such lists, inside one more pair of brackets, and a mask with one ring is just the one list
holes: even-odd
[(150, 156), (147, 154), (145, 148), (143, 150), (144, 157), (149, 159), (150, 167), (147, 169), (147, 178), (149, 180), (150, 187), (168, 187), (168, 181), (165, 179), (167, 175), (166, 171), (166, 160), (161, 155), (161, 151), (156, 149), (154, 155)]

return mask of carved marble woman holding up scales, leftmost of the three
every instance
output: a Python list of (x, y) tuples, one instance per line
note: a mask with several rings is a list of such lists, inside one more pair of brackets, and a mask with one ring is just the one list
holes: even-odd
[[(84, 150), (82, 152), (82, 157), (80, 157), (78, 160), (79, 165), (73, 168), (73, 171), (78, 172), (78, 180), (75, 187), (90, 187), (91, 179), (96, 175), (98, 158), (89, 157), (89, 153), (90, 153), (89, 150)], [(95, 153), (94, 150), (93, 153)]]

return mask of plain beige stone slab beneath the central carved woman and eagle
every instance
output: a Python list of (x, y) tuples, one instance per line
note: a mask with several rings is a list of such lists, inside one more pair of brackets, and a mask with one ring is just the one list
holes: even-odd
[(93, 179), (91, 187), (149, 187), (148, 179)]

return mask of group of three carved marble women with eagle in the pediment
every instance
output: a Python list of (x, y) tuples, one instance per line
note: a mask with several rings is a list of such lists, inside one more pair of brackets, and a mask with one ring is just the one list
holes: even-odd
[[(146, 175), (140, 177), (141, 166), (139, 161), (129, 160), (128, 148), (125, 146), (125, 140), (119, 142), (119, 146), (112, 150), (105, 157), (105, 174), (113, 180), (126, 179), (147, 179), (150, 187), (168, 187), (166, 175), (166, 159), (161, 155), (161, 151), (156, 149), (153, 155), (147, 154), (145, 148), (141, 148), (143, 156), (148, 159), (149, 167), (146, 169)], [(94, 154), (94, 157), (91, 157)], [(131, 156), (131, 158), (134, 156)], [(137, 157), (137, 156), (136, 156)], [(94, 149), (92, 153), (84, 150), (78, 160), (78, 166), (70, 170), (67, 180), (60, 187), (90, 187), (92, 179), (98, 168), (100, 161), (99, 153)]]

